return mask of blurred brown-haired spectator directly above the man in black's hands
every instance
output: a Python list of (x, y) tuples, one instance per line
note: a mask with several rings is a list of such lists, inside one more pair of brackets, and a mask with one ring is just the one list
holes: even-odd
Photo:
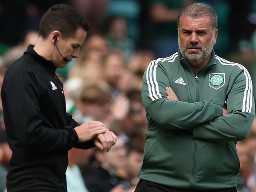
[(129, 111), (129, 101), (124, 95), (113, 99), (102, 85), (84, 85), (77, 91), (77, 110), (73, 115), (78, 122), (102, 121), (113, 132), (120, 132), (122, 120)]

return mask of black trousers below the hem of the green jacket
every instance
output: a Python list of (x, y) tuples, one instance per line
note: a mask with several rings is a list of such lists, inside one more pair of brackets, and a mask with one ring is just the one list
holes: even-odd
[(195, 189), (180, 189), (170, 186), (160, 185), (150, 181), (139, 180), (134, 192), (237, 192), (236, 187), (217, 189), (217, 190), (195, 190)]

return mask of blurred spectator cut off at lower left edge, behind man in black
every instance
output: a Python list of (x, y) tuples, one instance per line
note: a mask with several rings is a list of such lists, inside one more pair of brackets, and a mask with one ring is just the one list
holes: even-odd
[(6, 189), (7, 167), (11, 159), (12, 151), (9, 148), (6, 132), (0, 129), (0, 192)]

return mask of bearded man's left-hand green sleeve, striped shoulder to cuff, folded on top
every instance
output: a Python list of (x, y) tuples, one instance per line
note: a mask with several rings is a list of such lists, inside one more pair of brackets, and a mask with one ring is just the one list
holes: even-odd
[(163, 62), (150, 62), (143, 77), (142, 99), (149, 116), (167, 129), (188, 129), (223, 115), (223, 109), (209, 101), (188, 103), (169, 100), (165, 89), (170, 87)]

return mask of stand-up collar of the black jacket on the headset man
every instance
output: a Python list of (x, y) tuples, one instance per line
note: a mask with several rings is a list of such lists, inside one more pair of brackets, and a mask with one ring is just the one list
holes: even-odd
[(35, 52), (35, 50), (33, 48), (34, 48), (33, 45), (29, 45), (27, 51), (24, 52), (24, 54), (31, 55), (37, 61), (37, 63), (39, 63), (40, 65), (44, 66), (45, 68), (48, 68), (49, 70), (55, 72), (56, 67), (53, 65), (52, 61), (45, 59), (41, 55), (38, 55), (37, 52)]

